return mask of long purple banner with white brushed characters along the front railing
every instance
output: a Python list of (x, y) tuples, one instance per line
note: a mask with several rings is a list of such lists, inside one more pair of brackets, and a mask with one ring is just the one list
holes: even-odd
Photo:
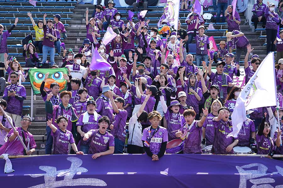
[(11, 159), (15, 172), (1, 187), (282, 187), (283, 163), (261, 157), (166, 154), (159, 161), (142, 155), (50, 155)]

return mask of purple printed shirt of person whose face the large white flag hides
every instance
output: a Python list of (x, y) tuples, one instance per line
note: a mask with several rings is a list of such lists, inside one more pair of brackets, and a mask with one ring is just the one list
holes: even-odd
[(239, 143), (238, 145), (250, 147), (250, 139), (252, 132), (255, 132), (255, 126), (251, 119), (247, 118), (243, 122), (240, 132), (238, 133)]

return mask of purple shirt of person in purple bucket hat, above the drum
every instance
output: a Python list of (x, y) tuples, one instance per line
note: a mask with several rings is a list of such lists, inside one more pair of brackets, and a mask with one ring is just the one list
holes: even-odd
[(182, 127), (185, 118), (183, 114), (173, 113), (170, 109), (167, 110), (164, 116), (167, 121), (168, 141), (171, 141), (177, 138), (175, 135), (176, 132), (173, 131), (179, 130)]

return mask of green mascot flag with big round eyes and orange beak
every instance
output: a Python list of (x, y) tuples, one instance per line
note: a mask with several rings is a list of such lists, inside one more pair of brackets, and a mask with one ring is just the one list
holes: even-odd
[(31, 81), (31, 88), (34, 95), (40, 94), (40, 86), (45, 78), (45, 74), (49, 72), (49, 76), (45, 81), (44, 90), (50, 91), (50, 84), (56, 82), (59, 84), (59, 92), (67, 89), (67, 81), (63, 74), (68, 74), (67, 68), (59, 69), (29, 69), (29, 77)]

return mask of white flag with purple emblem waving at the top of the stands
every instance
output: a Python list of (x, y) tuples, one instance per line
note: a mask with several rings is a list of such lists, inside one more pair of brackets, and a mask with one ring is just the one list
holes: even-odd
[(164, 14), (171, 26), (178, 30), (180, 0), (167, 0)]

